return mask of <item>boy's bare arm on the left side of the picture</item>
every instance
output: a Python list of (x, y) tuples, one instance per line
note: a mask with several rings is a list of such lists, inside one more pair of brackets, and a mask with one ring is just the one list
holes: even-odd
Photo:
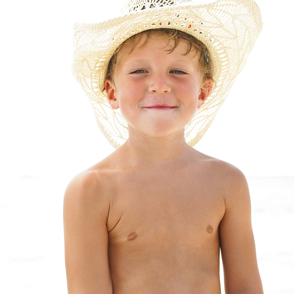
[(112, 294), (106, 228), (109, 205), (102, 194), (93, 172), (79, 174), (66, 188), (64, 242), (69, 294)]

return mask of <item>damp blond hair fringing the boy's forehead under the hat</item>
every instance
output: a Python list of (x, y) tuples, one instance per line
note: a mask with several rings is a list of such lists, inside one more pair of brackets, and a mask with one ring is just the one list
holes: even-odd
[(209, 52), (206, 46), (201, 41), (191, 36), (190, 34), (187, 34), (183, 31), (178, 31), (176, 29), (151, 29), (131, 36), (116, 48), (116, 51), (114, 52), (108, 63), (106, 79), (110, 79), (114, 82), (115, 69), (121, 56), (121, 48), (124, 48), (126, 50), (123, 52), (128, 52), (128, 54), (130, 54), (143, 36), (145, 37), (145, 40), (140, 48), (144, 47), (151, 39), (151, 37), (155, 37), (156, 39), (173, 40), (173, 48), (167, 50), (170, 51), (169, 53), (173, 52), (173, 50), (176, 49), (180, 42), (186, 42), (190, 48), (183, 55), (187, 55), (190, 51), (196, 51), (195, 56), (197, 56), (198, 58), (198, 69), (201, 74), (201, 81), (204, 81), (208, 78), (213, 78), (208, 61)]

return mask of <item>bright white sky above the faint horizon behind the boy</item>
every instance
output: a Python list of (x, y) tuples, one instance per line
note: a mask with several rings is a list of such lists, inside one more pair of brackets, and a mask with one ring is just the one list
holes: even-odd
[[(0, 176), (70, 179), (114, 151), (71, 76), (72, 26), (109, 19), (122, 2), (2, 4)], [(258, 4), (263, 30), (195, 148), (234, 164), (246, 176), (293, 176), (293, 48), (288, 40), (293, 2), (286, 8), (276, 1)]]

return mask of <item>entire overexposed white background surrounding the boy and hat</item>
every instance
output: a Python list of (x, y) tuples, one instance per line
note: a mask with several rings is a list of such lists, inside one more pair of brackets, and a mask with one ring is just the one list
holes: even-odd
[[(75, 174), (114, 150), (98, 129), (86, 94), (71, 76), (72, 26), (76, 21), (112, 18), (122, 2), (29, 0), (1, 5), (3, 293), (66, 293), (64, 189)], [(234, 164), (251, 179), (263, 283), (267, 293), (294, 293), (287, 278), (293, 271), (289, 248), (293, 248), (294, 209), (294, 7), (292, 1), (258, 4), (263, 30), (227, 101), (195, 148)], [(275, 262), (281, 269), (270, 274), (267, 264)], [(284, 290), (277, 281), (271, 284), (277, 277), (283, 277)]]

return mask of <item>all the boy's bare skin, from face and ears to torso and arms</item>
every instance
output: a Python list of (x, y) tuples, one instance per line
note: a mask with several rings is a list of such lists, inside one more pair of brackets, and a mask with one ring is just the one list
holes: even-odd
[(226, 293), (262, 294), (245, 177), (184, 140), (213, 82), (186, 43), (140, 42), (105, 81), (128, 140), (66, 189), (69, 294), (220, 294), (220, 248)]

